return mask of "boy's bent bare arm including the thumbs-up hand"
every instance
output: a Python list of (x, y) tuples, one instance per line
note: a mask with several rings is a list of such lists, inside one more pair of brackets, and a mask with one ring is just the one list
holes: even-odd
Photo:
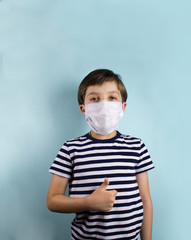
[(65, 196), (68, 179), (53, 175), (47, 194), (47, 207), (50, 211), (61, 213), (76, 213), (82, 211), (108, 211), (113, 207), (115, 190), (107, 191), (107, 178), (91, 195), (83, 198)]

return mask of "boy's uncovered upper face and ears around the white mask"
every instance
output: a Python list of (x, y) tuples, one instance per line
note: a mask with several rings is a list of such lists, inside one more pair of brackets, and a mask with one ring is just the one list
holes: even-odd
[[(105, 82), (102, 85), (89, 86), (86, 90), (86, 95), (84, 98), (84, 105), (89, 103), (96, 103), (103, 100), (111, 102), (122, 102), (121, 93), (117, 88), (114, 81)], [(85, 107), (80, 105), (80, 110), (85, 116)], [(126, 102), (123, 103), (123, 111), (126, 108)]]

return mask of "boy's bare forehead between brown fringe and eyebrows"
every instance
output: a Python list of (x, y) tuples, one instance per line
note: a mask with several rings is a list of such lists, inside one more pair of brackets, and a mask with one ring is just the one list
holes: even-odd
[(91, 93), (107, 94), (110, 92), (120, 93), (117, 84), (114, 81), (104, 82), (102, 85), (89, 86), (86, 90), (86, 96)]

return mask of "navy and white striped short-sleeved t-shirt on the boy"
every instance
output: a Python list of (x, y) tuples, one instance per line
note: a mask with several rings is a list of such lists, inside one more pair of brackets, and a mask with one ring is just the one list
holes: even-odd
[(107, 190), (116, 190), (110, 211), (86, 211), (72, 222), (75, 240), (136, 240), (143, 221), (143, 204), (136, 174), (154, 168), (139, 138), (117, 135), (98, 140), (89, 134), (64, 143), (49, 172), (69, 178), (69, 194), (81, 198), (109, 179)]

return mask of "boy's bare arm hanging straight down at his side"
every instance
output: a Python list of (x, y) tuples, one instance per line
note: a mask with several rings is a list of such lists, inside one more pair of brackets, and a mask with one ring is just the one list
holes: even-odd
[(140, 195), (143, 202), (143, 224), (141, 228), (141, 240), (152, 239), (152, 217), (153, 207), (149, 192), (149, 181), (147, 172), (140, 173), (136, 176), (139, 186)]

